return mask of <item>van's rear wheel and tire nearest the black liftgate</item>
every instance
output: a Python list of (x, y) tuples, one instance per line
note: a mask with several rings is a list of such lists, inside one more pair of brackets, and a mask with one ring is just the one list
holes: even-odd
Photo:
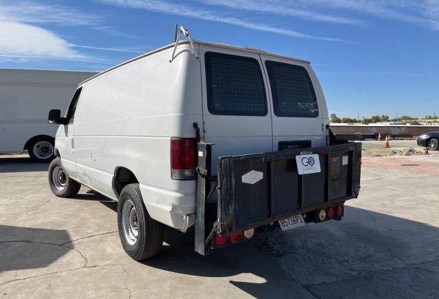
[(135, 261), (161, 252), (164, 226), (146, 211), (139, 184), (123, 187), (117, 204), (117, 227), (123, 250)]

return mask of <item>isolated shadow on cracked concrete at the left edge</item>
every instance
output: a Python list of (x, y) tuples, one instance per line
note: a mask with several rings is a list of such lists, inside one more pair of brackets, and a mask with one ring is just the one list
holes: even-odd
[(0, 237), (0, 273), (47, 267), (71, 250), (51, 243), (71, 241), (67, 230), (0, 225)]

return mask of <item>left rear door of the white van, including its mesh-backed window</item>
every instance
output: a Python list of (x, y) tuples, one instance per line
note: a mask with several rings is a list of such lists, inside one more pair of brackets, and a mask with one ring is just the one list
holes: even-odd
[(204, 142), (216, 158), (272, 152), (268, 86), (259, 54), (200, 45)]

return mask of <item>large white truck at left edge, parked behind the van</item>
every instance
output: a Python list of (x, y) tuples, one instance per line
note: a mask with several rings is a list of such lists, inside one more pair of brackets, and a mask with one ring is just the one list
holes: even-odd
[(34, 160), (50, 160), (56, 128), (47, 123), (47, 111), (64, 112), (78, 84), (95, 74), (0, 69), (0, 153), (27, 150)]

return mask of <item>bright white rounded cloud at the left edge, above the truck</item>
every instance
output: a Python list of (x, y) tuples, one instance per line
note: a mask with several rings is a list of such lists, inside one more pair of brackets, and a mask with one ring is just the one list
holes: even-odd
[(0, 58), (3, 60), (87, 59), (53, 32), (16, 21), (0, 21)]

